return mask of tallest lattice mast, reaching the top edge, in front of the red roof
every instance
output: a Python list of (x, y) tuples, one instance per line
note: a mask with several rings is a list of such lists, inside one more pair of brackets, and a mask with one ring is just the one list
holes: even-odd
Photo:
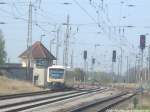
[(31, 68), (31, 61), (32, 61), (32, 3), (29, 3), (29, 15), (28, 15), (28, 38), (27, 38), (27, 76), (26, 79), (30, 76), (30, 68)]

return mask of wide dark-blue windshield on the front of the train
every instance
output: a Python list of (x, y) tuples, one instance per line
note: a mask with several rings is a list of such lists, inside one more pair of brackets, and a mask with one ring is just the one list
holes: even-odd
[(64, 69), (50, 69), (49, 76), (54, 79), (62, 79), (64, 75)]

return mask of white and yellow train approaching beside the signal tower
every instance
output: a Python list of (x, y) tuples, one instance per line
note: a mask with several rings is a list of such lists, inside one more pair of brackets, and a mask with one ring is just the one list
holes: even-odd
[(70, 69), (60, 65), (52, 65), (47, 69), (47, 85), (50, 89), (73, 88), (74, 76)]

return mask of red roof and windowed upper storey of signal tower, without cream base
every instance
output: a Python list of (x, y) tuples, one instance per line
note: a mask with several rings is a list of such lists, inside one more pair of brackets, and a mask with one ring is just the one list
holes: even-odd
[(31, 58), (31, 67), (36, 66), (50, 66), (56, 58), (48, 51), (44, 45), (37, 41), (31, 48), (25, 50), (19, 58), (21, 58), (22, 67), (27, 67), (29, 57)]

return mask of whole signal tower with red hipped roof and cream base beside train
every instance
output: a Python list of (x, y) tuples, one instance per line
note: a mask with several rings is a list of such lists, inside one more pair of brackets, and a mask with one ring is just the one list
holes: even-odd
[(44, 45), (37, 41), (31, 48), (25, 50), (20, 56), (22, 67), (27, 67), (30, 59), (30, 67), (33, 68), (33, 83), (45, 87), (47, 80), (47, 67), (53, 65), (56, 60)]

